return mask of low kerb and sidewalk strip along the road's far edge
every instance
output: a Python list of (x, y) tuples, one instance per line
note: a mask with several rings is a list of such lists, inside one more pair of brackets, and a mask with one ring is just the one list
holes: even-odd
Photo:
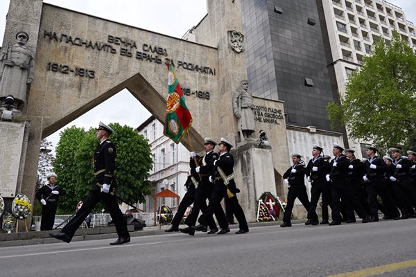
[[(293, 220), (292, 223), (302, 223), (304, 220)], [(281, 221), (275, 222), (252, 222), (248, 226), (250, 228), (256, 226), (279, 226)], [(128, 225), (128, 231), (131, 237), (141, 237), (144, 235), (168, 235), (164, 230), (168, 229), (170, 225), (164, 225), (162, 228), (159, 226), (144, 227), (143, 231), (134, 231), (134, 226)], [(186, 225), (180, 226), (182, 228), (187, 227)], [(239, 230), (239, 225), (230, 225), (232, 233)], [(19, 232), (19, 233), (0, 233), (0, 248), (1, 247), (17, 247), (23, 245), (34, 245), (34, 244), (47, 244), (47, 243), (61, 243), (60, 240), (51, 238), (49, 233), (57, 233), (59, 230), (51, 231), (31, 231), (31, 232)], [(72, 242), (79, 242), (83, 240), (105, 240), (114, 238), (116, 240), (116, 230), (114, 226), (97, 227), (97, 228), (83, 228), (76, 231)]]

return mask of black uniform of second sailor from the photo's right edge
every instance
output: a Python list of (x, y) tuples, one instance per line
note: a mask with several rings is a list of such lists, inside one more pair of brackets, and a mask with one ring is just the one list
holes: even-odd
[[(399, 197), (407, 210), (404, 217), (413, 217), (415, 214), (413, 208), (416, 208), (416, 186), (410, 178), (410, 167), (413, 166), (413, 163), (406, 157), (394, 161), (394, 164), (396, 168), (393, 176), (397, 179), (394, 184), (399, 187), (397, 190), (401, 190), (401, 195), (399, 195)], [(401, 168), (397, 168), (397, 165), (400, 165)]]

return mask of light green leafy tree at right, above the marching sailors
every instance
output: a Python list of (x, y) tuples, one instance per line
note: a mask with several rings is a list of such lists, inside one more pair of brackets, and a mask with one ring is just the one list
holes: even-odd
[(341, 104), (327, 106), (333, 127), (345, 125), (353, 139), (382, 150), (409, 147), (416, 138), (416, 55), (399, 33), (373, 45), (374, 53), (354, 71)]

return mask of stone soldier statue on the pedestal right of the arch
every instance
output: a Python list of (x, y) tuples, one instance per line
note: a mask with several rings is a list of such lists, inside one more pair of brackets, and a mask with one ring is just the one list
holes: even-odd
[(248, 81), (242, 80), (240, 91), (233, 96), (232, 109), (238, 118), (240, 139), (250, 139), (254, 132), (253, 96), (248, 91)]

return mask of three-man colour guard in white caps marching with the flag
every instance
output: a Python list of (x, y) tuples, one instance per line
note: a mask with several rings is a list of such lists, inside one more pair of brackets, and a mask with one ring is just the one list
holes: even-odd
[[(236, 196), (240, 190), (236, 188), (234, 181), (234, 157), (229, 154), (233, 145), (221, 138), (217, 153), (214, 152), (216, 144), (213, 139), (205, 138), (204, 156), (199, 157), (195, 152), (190, 152), (191, 170), (189, 170), (187, 180), (187, 195), (191, 190), (192, 197), (184, 197), (180, 203), (181, 209), (174, 217), (176, 220), (172, 222), (171, 228), (165, 230), (166, 232), (181, 231), (188, 235), (195, 235), (196, 231), (207, 232), (209, 235), (229, 233), (229, 222), (221, 206), (222, 200), (227, 199), (230, 212), (239, 222), (239, 231), (236, 231), (236, 234), (248, 233), (247, 220)], [(195, 162), (195, 160), (198, 161)], [(207, 199), (209, 200), (208, 205)], [(184, 209), (192, 202), (192, 211), (184, 222), (188, 225), (187, 228), (178, 228)], [(202, 215), (198, 219), (200, 211)], [(220, 229), (217, 228), (213, 215), (215, 215)], [(196, 225), (197, 220), (198, 225)]]

